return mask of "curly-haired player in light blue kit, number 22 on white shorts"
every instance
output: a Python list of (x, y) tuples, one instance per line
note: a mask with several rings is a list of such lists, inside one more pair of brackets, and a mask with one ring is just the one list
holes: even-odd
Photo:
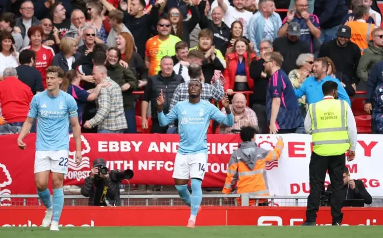
[[(64, 205), (63, 180), (68, 173), (69, 121), (76, 140), (76, 162), (81, 162), (81, 127), (77, 116), (77, 103), (68, 93), (60, 90), (64, 72), (61, 68), (50, 66), (46, 70), (45, 91), (32, 98), (28, 117), (20, 132), (17, 144), (25, 149), (24, 137), (31, 130), (37, 118), (35, 181), (37, 194), (46, 207), (43, 227), (58, 230), (62, 206)], [(52, 172), (53, 200), (47, 189), (49, 174)]]

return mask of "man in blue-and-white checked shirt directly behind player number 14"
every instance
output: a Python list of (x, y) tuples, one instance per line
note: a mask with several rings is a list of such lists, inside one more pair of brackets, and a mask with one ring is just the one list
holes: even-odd
[[(190, 80), (200, 80), (202, 76), (202, 68), (198, 63), (193, 63), (188, 66)], [(184, 101), (189, 99), (189, 93), (187, 92), (188, 82), (181, 83), (175, 89), (173, 98), (171, 99), (169, 111), (175, 106), (177, 102)], [(201, 99), (210, 101), (214, 99), (215, 101), (220, 101), (225, 96), (223, 92), (222, 84), (217, 80), (214, 85), (202, 83), (201, 90)], [(169, 125), (167, 133), (176, 133), (176, 126), (174, 124)]]

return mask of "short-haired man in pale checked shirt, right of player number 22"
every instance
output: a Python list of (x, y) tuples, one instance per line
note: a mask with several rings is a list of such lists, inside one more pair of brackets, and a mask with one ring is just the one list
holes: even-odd
[(120, 86), (108, 77), (105, 66), (93, 67), (93, 79), (96, 84), (108, 82), (103, 87), (96, 101), (97, 113), (84, 127), (91, 129), (98, 126), (97, 133), (123, 133), (127, 128)]

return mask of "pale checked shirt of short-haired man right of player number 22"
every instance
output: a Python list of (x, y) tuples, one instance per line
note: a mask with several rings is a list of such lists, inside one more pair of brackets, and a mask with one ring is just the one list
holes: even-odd
[(108, 82), (111, 86), (102, 87), (96, 101), (97, 113), (89, 120), (92, 127), (98, 130), (117, 131), (127, 128), (120, 86), (109, 77), (101, 83)]

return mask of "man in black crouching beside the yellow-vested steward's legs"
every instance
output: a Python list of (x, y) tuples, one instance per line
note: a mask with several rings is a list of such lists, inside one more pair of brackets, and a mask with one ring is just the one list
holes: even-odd
[[(343, 200), (363, 199), (365, 204), (371, 204), (371, 195), (367, 192), (360, 180), (350, 178), (350, 172), (345, 167), (343, 170)], [(331, 184), (327, 187), (327, 192), (332, 192)]]

